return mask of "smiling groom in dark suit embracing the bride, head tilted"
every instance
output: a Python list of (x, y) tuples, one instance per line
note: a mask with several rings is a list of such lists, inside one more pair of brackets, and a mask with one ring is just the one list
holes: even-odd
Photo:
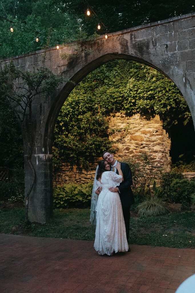
[[(114, 159), (114, 155), (109, 151), (104, 151), (102, 154), (104, 160), (108, 161), (111, 165), (111, 171), (114, 171), (118, 174), (117, 169), (115, 168), (117, 161)], [(132, 173), (129, 165), (127, 163), (120, 163), (121, 171), (123, 174), (124, 181), (120, 183), (118, 187), (111, 187), (109, 190), (111, 192), (117, 192), (120, 195), (120, 201), (122, 204), (122, 212), (125, 221), (125, 229), (127, 235), (127, 241), (129, 240), (129, 230), (130, 230), (130, 206), (134, 203), (134, 197), (131, 190), (132, 185)], [(114, 168), (113, 168), (114, 167)]]

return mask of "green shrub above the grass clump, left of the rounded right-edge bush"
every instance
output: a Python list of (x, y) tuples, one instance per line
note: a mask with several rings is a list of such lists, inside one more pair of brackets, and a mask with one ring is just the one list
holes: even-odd
[(173, 181), (176, 179), (182, 180), (184, 179), (184, 176), (181, 173), (177, 173), (175, 171), (161, 173), (160, 187), (161, 187), (161, 196), (163, 198), (166, 198), (167, 200), (170, 199), (170, 194), (171, 194), (170, 186), (173, 183)]

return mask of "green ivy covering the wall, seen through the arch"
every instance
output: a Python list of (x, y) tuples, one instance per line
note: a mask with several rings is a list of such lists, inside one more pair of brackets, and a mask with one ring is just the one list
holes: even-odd
[(107, 115), (116, 112), (160, 115), (166, 129), (185, 124), (191, 114), (179, 89), (156, 69), (115, 60), (88, 74), (70, 93), (54, 132), (54, 167), (70, 162), (88, 168), (94, 157), (111, 149)]

